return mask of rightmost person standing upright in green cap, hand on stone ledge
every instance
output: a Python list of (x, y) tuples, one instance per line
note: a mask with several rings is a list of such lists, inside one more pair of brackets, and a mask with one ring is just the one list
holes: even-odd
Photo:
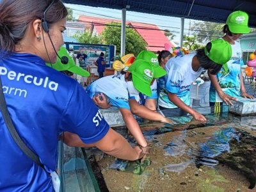
[(232, 105), (231, 100), (239, 97), (254, 99), (246, 93), (243, 82), (241, 66), (243, 66), (243, 55), (241, 45), (237, 41), (244, 33), (250, 33), (248, 27), (248, 15), (244, 11), (234, 11), (228, 15), (225, 26), (223, 26), (223, 40), (227, 41), (232, 48), (232, 57), (227, 66), (222, 68), (216, 75), (209, 73), (211, 87), (209, 92), (210, 106), (214, 106), (214, 112), (220, 112), (223, 101)]

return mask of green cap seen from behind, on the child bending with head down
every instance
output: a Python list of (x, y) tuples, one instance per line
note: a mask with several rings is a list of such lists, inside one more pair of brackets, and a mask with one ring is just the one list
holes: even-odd
[(211, 41), (211, 50), (207, 50), (207, 46), (204, 48), (205, 55), (212, 61), (218, 64), (222, 64), (225, 71), (228, 71), (227, 62), (232, 56), (232, 48), (230, 43), (223, 39)]

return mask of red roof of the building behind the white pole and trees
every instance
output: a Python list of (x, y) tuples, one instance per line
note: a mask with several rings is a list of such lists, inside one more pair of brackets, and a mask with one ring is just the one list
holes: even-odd
[[(102, 33), (105, 24), (110, 22), (121, 22), (121, 20), (92, 17), (86, 15), (80, 15), (79, 21), (84, 22), (86, 29), (97, 35)], [(168, 38), (164, 35), (164, 32), (154, 24), (127, 21), (126, 25), (131, 26), (132, 29), (140, 34), (143, 40), (147, 43), (147, 50), (152, 52), (164, 50), (164, 43), (168, 43), (168, 45), (171, 47), (176, 47), (170, 40), (168, 40)]]

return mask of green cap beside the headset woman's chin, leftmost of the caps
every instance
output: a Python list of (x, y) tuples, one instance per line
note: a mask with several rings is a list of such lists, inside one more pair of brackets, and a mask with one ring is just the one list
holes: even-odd
[(58, 55), (60, 57), (66, 56), (68, 57), (68, 63), (63, 64), (61, 63), (61, 60), (59, 57), (57, 57), (57, 62), (54, 64), (46, 63), (47, 66), (54, 68), (54, 70), (57, 71), (70, 71), (72, 73), (75, 73), (77, 75), (81, 75), (83, 77), (89, 77), (90, 73), (83, 68), (80, 68), (79, 66), (76, 65), (74, 59), (68, 55), (68, 50), (65, 47), (61, 47), (60, 50), (58, 51)]

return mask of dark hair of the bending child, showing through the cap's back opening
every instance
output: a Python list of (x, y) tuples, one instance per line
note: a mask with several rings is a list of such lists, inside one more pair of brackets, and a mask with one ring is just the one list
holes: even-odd
[[(206, 45), (207, 51), (210, 52), (212, 43), (209, 42)], [(205, 70), (208, 70), (212, 75), (216, 75), (222, 68), (221, 64), (215, 63), (207, 55), (205, 55), (204, 48), (196, 50), (196, 56), (200, 63), (200, 66)]]

